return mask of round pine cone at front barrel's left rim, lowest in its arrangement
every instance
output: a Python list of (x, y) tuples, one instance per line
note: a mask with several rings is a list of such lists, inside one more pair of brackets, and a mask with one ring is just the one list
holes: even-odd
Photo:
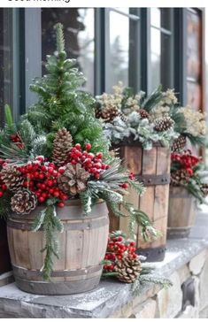
[(37, 197), (32, 191), (19, 189), (11, 199), (12, 211), (19, 215), (26, 215), (33, 211), (37, 205)]

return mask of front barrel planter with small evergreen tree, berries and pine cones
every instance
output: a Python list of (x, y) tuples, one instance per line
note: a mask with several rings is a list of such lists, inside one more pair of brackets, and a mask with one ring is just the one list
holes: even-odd
[(79, 89), (85, 79), (66, 58), (62, 25), (56, 33), (48, 73), (30, 87), (38, 102), (17, 124), (6, 105), (0, 133), (0, 211), (8, 218), (14, 277), (20, 289), (41, 295), (96, 288), (108, 209), (128, 216), (131, 234), (138, 224), (145, 239), (157, 235), (148, 216), (124, 199), (129, 187), (142, 195), (143, 184), (109, 154), (95, 100)]

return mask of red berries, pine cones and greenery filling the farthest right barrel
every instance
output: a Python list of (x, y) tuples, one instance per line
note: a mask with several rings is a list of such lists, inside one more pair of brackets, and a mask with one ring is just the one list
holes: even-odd
[(208, 185), (203, 179), (202, 157), (192, 155), (188, 149), (181, 153), (173, 152), (171, 160), (171, 186), (186, 188), (198, 203), (204, 203)]

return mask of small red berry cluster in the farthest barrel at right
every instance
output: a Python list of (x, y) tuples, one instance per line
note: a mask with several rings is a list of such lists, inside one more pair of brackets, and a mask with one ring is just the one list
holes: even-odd
[(180, 165), (180, 168), (186, 170), (191, 177), (195, 171), (196, 165), (201, 161), (200, 157), (192, 156), (191, 151), (185, 150), (181, 154), (173, 152), (171, 154), (171, 160), (173, 163)]

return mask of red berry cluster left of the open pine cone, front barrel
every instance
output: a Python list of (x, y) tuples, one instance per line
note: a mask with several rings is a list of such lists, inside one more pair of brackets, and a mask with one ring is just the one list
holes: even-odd
[(25, 178), (23, 186), (33, 191), (39, 203), (45, 203), (50, 197), (58, 198), (58, 206), (64, 207), (68, 198), (58, 188), (58, 177), (65, 172), (63, 167), (57, 168), (47, 162), (44, 157), (36, 157), (35, 161), (18, 168)]

